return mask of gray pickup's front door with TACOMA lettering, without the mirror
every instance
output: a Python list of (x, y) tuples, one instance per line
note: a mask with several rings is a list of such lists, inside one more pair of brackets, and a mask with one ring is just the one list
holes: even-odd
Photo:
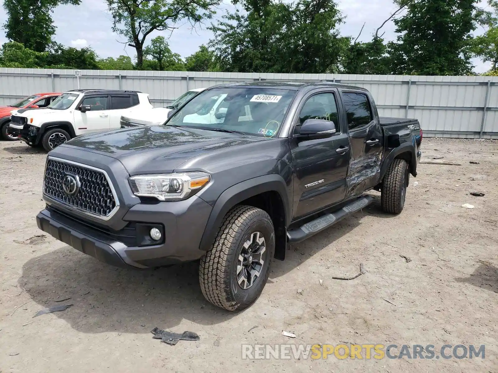
[(338, 203), (346, 196), (349, 138), (345, 126), (340, 125), (337, 102), (336, 92), (312, 93), (299, 111), (294, 133), (310, 118), (332, 120), (337, 132), (325, 139), (290, 140), (295, 167), (293, 219)]

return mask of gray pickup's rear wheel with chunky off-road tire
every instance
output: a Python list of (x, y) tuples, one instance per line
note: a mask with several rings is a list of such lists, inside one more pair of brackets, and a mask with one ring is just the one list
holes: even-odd
[(404, 159), (392, 161), (382, 181), (380, 191), (382, 211), (391, 214), (403, 211), (408, 175), (408, 164)]

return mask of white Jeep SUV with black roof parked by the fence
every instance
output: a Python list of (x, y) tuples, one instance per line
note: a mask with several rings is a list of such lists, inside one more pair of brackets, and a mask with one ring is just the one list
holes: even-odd
[(11, 112), (10, 126), (19, 138), (46, 151), (84, 133), (120, 128), (124, 112), (149, 110), (148, 94), (135, 91), (75, 90), (62, 93), (50, 105)]

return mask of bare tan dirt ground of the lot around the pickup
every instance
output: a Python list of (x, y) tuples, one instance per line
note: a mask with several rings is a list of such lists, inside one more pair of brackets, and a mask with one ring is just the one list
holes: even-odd
[[(422, 146), (462, 165), (419, 165), (399, 216), (373, 192), (368, 208), (291, 246), (258, 301), (230, 313), (204, 299), (195, 263), (116, 269), (51, 236), (29, 240), (43, 234), (46, 154), (0, 142), (0, 372), (498, 372), (498, 142)], [(331, 279), (360, 263), (363, 276)], [(156, 326), (200, 341), (169, 346)], [(242, 359), (242, 344), (317, 343), (432, 344), (436, 358)], [(445, 344), (484, 344), (485, 359), (438, 359)]]

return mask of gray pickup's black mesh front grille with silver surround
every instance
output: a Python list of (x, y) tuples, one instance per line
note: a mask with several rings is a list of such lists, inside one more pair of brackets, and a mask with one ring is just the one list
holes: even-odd
[[(66, 176), (79, 182), (73, 194), (63, 188)], [(50, 157), (45, 169), (43, 193), (57, 203), (103, 220), (109, 219), (119, 207), (111, 182), (103, 171)]]

